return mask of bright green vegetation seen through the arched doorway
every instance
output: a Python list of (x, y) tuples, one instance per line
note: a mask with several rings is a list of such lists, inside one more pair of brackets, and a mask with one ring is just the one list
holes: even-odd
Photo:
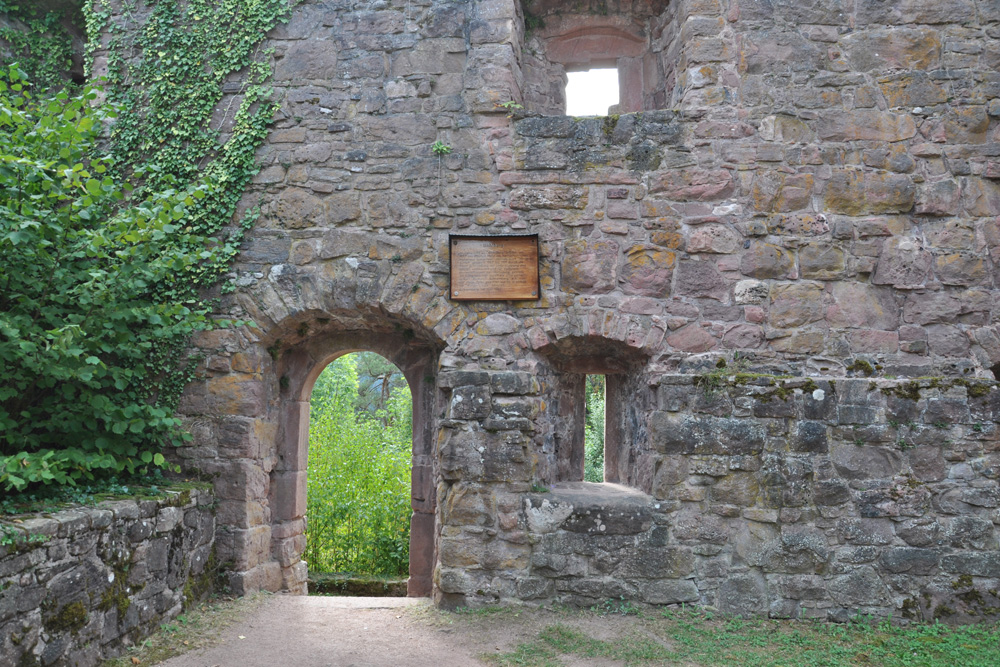
[(313, 387), (305, 560), (317, 572), (405, 575), (412, 401), (372, 353), (331, 363)]

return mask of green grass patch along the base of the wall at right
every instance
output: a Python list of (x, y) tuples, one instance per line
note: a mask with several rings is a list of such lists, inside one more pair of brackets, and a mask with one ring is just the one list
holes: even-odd
[[(597, 612), (603, 612), (598, 609)], [(565, 612), (564, 612), (565, 614)], [(887, 622), (718, 619), (693, 609), (640, 613), (618, 636), (595, 639), (566, 618), (513, 651), (484, 655), (499, 667), (558, 667), (570, 658), (624, 665), (740, 667), (993, 667), (1000, 625), (895, 627)]]

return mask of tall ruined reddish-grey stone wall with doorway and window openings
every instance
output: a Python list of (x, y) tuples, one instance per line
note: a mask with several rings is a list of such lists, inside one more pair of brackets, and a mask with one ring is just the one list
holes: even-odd
[[(254, 326), (182, 404), (237, 590), (304, 591), (309, 392), (367, 349), (411, 594), (997, 613), (998, 0), (307, 0), (268, 46)], [(608, 62), (628, 113), (560, 115)], [(449, 300), (452, 233), (537, 234), (541, 298)]]

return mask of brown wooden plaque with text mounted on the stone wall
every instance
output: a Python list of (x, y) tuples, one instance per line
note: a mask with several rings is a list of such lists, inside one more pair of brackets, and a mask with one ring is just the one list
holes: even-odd
[(541, 293), (538, 235), (452, 236), (451, 291), (456, 301), (527, 301)]

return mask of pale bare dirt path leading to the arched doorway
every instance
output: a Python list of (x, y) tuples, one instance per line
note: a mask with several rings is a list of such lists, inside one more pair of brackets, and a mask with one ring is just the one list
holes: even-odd
[[(165, 667), (471, 667), (513, 650), (553, 623), (592, 637), (626, 632), (625, 617), (538, 609), (448, 613), (421, 598), (276, 595), (220, 633), (220, 641)], [(621, 626), (621, 627), (619, 627)], [(567, 665), (613, 665), (570, 661)]]

